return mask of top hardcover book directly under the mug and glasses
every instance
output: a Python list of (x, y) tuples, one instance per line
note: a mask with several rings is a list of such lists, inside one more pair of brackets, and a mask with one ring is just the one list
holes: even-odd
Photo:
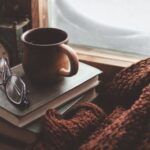
[(72, 77), (64, 77), (56, 84), (49, 86), (35, 86), (26, 79), (22, 65), (12, 68), (12, 72), (21, 76), (29, 90), (29, 108), (18, 109), (7, 99), (4, 91), (0, 90), (0, 117), (15, 126), (23, 127), (44, 115), (48, 108), (57, 108), (69, 100), (99, 84), (100, 70), (80, 63), (79, 71)]

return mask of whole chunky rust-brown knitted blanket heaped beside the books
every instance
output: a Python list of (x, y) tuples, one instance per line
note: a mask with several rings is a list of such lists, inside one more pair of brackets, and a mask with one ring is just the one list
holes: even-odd
[[(110, 114), (101, 100), (112, 105)], [(96, 104), (81, 103), (65, 116), (48, 110), (32, 149), (150, 150), (150, 58), (116, 74)]]

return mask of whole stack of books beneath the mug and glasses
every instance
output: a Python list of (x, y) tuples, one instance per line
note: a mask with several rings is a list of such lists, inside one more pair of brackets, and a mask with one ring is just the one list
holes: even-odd
[[(20, 110), (7, 99), (0, 90), (0, 149), (21, 150), (20, 145), (34, 143), (41, 129), (41, 118), (47, 109), (57, 109), (65, 114), (82, 101), (92, 101), (97, 97), (96, 87), (99, 85), (99, 69), (81, 63), (79, 71), (72, 77), (64, 77), (53, 85), (35, 85), (28, 80), (22, 68), (18, 65), (12, 72), (21, 76), (29, 90), (29, 108)], [(14, 142), (17, 141), (17, 142)], [(7, 143), (7, 144), (6, 144)], [(15, 145), (16, 143), (16, 145)]]

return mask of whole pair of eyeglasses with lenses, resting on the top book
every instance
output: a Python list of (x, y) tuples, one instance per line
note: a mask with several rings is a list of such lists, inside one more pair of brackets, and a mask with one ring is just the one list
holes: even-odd
[(12, 74), (5, 58), (0, 58), (0, 85), (4, 86), (5, 93), (13, 104), (21, 108), (29, 106), (26, 85), (20, 77)]

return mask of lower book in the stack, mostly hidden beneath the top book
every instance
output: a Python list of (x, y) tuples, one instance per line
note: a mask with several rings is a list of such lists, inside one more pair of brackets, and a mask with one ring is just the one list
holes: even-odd
[[(78, 98), (75, 98), (66, 104), (60, 106), (57, 108), (57, 111), (65, 115), (66, 113), (69, 113), (69, 111), (75, 107), (78, 103), (84, 102), (84, 101), (92, 101), (94, 98), (97, 97), (97, 93), (95, 91), (95, 88), (87, 91), (86, 93), (83, 93)], [(41, 132), (42, 129), (42, 118), (37, 119), (36, 121), (28, 124), (25, 127), (16, 127), (12, 125), (11, 123), (5, 121), (4, 119), (0, 119), (0, 135), (1, 139), (6, 139), (6, 141), (16, 141), (19, 144), (27, 144), (31, 145), (33, 144)]]

